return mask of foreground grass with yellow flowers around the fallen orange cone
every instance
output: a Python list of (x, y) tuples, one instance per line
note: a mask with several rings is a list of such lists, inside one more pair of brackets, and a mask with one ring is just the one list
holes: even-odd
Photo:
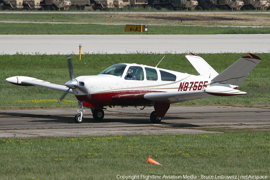
[[(0, 180), (103, 180), (117, 179), (117, 175), (194, 175), (197, 179), (264, 175), (269, 179), (269, 138), (269, 132), (240, 131), (0, 139)], [(149, 155), (162, 166), (146, 164)]]

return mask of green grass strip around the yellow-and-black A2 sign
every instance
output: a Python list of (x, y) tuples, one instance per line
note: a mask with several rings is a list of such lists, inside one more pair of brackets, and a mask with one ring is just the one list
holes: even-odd
[(149, 32), (125, 32), (125, 25), (0, 23), (2, 35), (65, 34), (270, 34), (270, 28), (148, 26)]

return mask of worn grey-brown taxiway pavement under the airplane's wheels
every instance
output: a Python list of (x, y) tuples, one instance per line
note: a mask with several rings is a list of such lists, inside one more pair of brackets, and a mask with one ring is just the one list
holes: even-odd
[(85, 109), (82, 124), (74, 122), (77, 109), (2, 110), (0, 138), (217, 133), (199, 128), (270, 130), (269, 108), (171, 107), (160, 124), (149, 119), (154, 108), (137, 109), (108, 108), (102, 121)]

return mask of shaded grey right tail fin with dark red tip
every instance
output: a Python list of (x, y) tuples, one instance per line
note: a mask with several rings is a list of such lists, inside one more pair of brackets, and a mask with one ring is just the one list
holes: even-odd
[(250, 56), (243, 56), (235, 63), (212, 79), (214, 82), (226, 83), (230, 85), (239, 86), (249, 75), (250, 71), (254, 69), (261, 59), (249, 53)]

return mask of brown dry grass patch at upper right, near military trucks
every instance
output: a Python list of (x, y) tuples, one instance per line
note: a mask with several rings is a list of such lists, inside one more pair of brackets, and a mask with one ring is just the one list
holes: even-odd
[(117, 14), (116, 21), (146, 24), (270, 26), (269, 14)]

